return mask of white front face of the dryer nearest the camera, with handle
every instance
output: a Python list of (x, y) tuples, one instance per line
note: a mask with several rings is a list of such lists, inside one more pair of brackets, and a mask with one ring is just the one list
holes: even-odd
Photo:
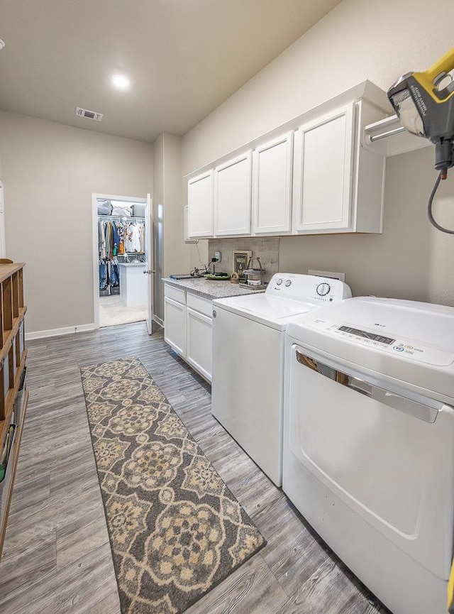
[(441, 614), (453, 560), (454, 410), (437, 411), (422, 390), (413, 400), (378, 388), (378, 373), (372, 383), (338, 371), (291, 339), (285, 363), (284, 492), (393, 612)]

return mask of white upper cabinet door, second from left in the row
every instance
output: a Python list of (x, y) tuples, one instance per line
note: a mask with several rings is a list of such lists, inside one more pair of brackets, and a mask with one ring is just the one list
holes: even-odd
[(214, 169), (216, 236), (250, 234), (251, 152)]

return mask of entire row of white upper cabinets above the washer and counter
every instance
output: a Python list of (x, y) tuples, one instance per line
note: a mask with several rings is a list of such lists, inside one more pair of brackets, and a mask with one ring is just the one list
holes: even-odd
[(385, 155), (366, 126), (389, 110), (364, 81), (245, 143), (189, 179), (189, 239), (380, 233)]

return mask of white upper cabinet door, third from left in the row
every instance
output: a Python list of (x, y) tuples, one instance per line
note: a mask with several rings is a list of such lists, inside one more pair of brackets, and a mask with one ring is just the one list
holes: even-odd
[(253, 152), (253, 234), (291, 231), (293, 134)]

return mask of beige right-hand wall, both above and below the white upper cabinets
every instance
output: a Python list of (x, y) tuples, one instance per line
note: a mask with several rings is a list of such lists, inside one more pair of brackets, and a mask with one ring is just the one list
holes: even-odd
[[(453, 22), (451, 0), (435, 0), (423, 18), (419, 0), (344, 0), (184, 136), (183, 174), (362, 80), (387, 90), (405, 72), (426, 70), (452, 47)], [(454, 305), (454, 238), (432, 229), (426, 216), (435, 178), (432, 147), (388, 158), (384, 233), (283, 237), (279, 270), (338, 270), (356, 295)], [(454, 227), (454, 171), (436, 211)], [(199, 242), (202, 258), (207, 243)]]

